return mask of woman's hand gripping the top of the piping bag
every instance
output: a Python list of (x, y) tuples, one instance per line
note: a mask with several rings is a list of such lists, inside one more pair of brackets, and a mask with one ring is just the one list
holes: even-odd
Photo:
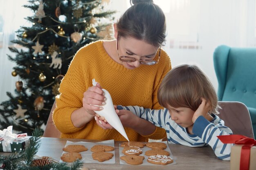
[(100, 106), (106, 104), (105, 101), (106, 98), (99, 83), (97, 83), (96, 86), (89, 87), (88, 90), (83, 93), (83, 108), (90, 115), (95, 114), (93, 110), (102, 110), (103, 108)]

